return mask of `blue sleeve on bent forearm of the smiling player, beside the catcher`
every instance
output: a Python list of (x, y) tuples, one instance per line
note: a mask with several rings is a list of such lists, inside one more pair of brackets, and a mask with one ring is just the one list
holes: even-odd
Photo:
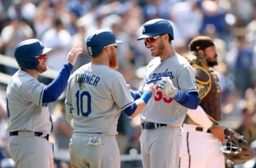
[(199, 104), (199, 97), (196, 92), (184, 93), (183, 91), (178, 90), (177, 95), (173, 97), (173, 99), (182, 106), (190, 109), (196, 109)]

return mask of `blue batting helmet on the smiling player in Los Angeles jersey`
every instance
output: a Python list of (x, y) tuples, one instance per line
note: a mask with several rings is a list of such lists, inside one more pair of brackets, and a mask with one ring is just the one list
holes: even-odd
[(137, 38), (137, 40), (157, 35), (163, 35), (164, 33), (168, 33), (171, 38), (174, 39), (173, 28), (170, 21), (165, 19), (149, 20), (143, 24), (142, 35)]

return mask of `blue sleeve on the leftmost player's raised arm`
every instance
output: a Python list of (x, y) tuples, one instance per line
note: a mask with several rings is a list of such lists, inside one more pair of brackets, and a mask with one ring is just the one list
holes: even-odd
[(50, 103), (57, 100), (66, 88), (68, 78), (73, 70), (73, 65), (66, 63), (57, 77), (44, 89), (43, 103)]

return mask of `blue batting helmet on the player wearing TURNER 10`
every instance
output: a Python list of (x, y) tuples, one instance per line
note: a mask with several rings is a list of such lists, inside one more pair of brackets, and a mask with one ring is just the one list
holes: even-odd
[(123, 41), (116, 39), (112, 31), (99, 29), (87, 37), (86, 45), (90, 55), (98, 55), (105, 46), (122, 42)]

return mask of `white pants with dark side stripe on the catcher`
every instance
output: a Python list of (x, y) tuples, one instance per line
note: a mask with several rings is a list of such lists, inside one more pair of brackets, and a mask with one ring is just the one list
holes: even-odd
[(219, 140), (211, 133), (196, 131), (197, 126), (183, 124), (180, 168), (225, 168)]

